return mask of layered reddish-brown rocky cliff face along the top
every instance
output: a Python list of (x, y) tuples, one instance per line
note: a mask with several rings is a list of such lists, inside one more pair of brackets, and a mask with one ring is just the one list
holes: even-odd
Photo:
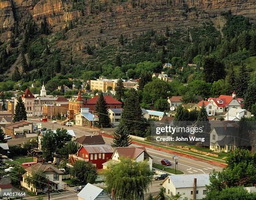
[[(164, 30), (166, 25), (171, 31), (187, 29), (209, 17), (215, 17), (230, 10), (234, 15), (255, 17), (255, 0), (126, 0), (110, 3), (100, 0), (105, 10), (84, 1), (82, 9), (74, 9), (72, 0), (0, 0), (0, 28), (2, 40), (10, 37), (15, 21), (20, 25), (29, 18), (40, 23), (46, 16), (53, 31), (67, 25), (69, 20), (78, 21), (78, 28), (67, 33), (75, 36), (74, 41), (64, 41), (65, 48), (79, 50), (84, 42), (97, 43), (99, 40), (112, 40), (120, 33), (126, 37), (141, 35), (152, 28)], [(77, 7), (76, 7), (77, 8)], [(102, 34), (98, 34), (100, 28)]]

